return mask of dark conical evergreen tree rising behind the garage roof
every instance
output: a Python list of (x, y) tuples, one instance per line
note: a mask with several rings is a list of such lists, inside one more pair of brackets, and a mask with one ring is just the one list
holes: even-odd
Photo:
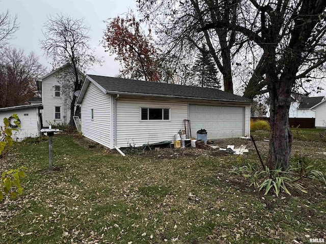
[(196, 56), (192, 71), (194, 74), (194, 85), (221, 89), (218, 70), (205, 44), (203, 44), (202, 51)]

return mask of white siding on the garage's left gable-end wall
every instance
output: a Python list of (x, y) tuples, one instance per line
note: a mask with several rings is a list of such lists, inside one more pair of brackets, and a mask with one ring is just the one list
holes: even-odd
[[(94, 119), (91, 119), (91, 109)], [(82, 133), (85, 137), (111, 147), (111, 96), (90, 83), (82, 102)]]

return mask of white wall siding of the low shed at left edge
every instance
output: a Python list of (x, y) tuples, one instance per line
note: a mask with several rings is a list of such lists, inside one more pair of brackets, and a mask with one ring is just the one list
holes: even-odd
[(38, 108), (14, 109), (9, 111), (0, 111), (0, 121), (3, 125), (3, 119), (9, 118), (14, 113), (17, 113), (20, 119), (21, 128), (18, 131), (13, 131), (14, 140), (21, 141), (28, 137), (38, 137), (40, 135), (41, 125), (38, 117)]

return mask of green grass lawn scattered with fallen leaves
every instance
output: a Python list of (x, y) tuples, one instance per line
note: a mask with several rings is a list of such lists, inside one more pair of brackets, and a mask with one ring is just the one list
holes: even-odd
[[(326, 172), (326, 135), (294, 130), (293, 154)], [(255, 132), (266, 157), (266, 132)], [(326, 240), (326, 188), (306, 181), (308, 194), (264, 196), (229, 173), (257, 164), (252, 142), (223, 140), (250, 152), (162, 149), (110, 153), (72, 135), (15, 144), (0, 169), (26, 166), (23, 195), (0, 204), (1, 243), (309, 243)]]

